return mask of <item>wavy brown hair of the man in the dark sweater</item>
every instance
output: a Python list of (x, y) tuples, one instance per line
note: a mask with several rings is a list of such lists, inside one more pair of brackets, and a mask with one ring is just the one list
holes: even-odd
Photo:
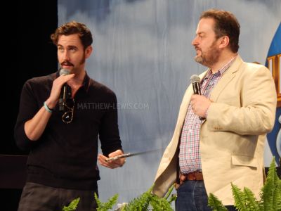
[(53, 34), (51, 34), (51, 39), (53, 44), (58, 45), (58, 37), (60, 35), (70, 35), (70, 34), (78, 34), (81, 40), (84, 49), (86, 47), (91, 46), (93, 43), (93, 37), (91, 31), (89, 30), (84, 23), (79, 23), (76, 21), (71, 21), (69, 23), (65, 23), (58, 27)]

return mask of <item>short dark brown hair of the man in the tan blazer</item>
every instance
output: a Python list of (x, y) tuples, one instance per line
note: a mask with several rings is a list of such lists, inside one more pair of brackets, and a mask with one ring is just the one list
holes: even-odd
[(240, 24), (233, 13), (210, 9), (201, 14), (200, 20), (202, 18), (213, 18), (215, 20), (214, 32), (216, 33), (216, 38), (218, 39), (219, 37), (227, 35), (230, 39), (231, 51), (233, 51), (233, 53), (238, 51)]

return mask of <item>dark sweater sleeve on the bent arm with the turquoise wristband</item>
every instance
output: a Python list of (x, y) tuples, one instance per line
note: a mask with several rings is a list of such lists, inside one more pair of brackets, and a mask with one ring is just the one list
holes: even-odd
[(22, 150), (29, 150), (32, 148), (32, 144), (34, 144), (34, 141), (28, 139), (25, 134), (25, 122), (32, 119), (39, 109), (32, 91), (32, 82), (29, 80), (25, 82), (22, 88), (19, 113), (14, 128), (15, 143)]

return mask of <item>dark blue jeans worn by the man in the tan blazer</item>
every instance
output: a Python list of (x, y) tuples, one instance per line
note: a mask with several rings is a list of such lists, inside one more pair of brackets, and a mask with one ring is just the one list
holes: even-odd
[[(235, 211), (233, 206), (226, 206)], [(177, 190), (176, 211), (211, 211), (204, 181), (186, 180)]]

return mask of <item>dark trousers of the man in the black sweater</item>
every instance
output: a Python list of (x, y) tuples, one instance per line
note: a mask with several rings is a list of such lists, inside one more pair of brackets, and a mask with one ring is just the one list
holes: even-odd
[(65, 188), (53, 188), (27, 182), (22, 190), (18, 211), (53, 211), (63, 210), (75, 198), (80, 198), (77, 211), (96, 211), (94, 193), (98, 190), (84, 191)]

